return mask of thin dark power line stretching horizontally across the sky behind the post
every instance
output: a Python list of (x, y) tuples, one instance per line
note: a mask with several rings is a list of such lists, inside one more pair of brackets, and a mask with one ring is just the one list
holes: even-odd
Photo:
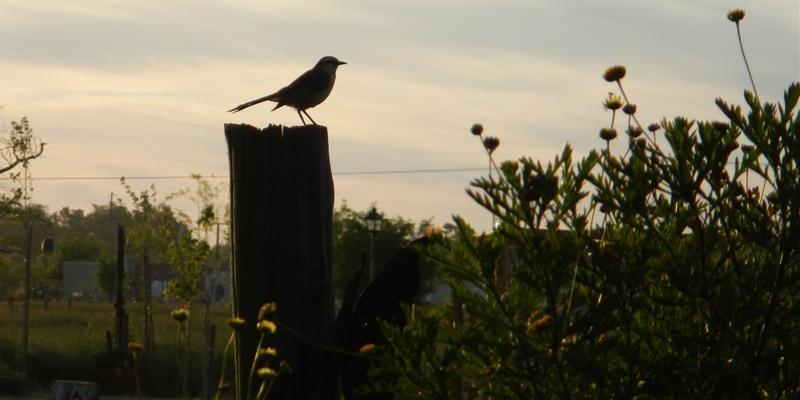
[[(486, 171), (486, 167), (464, 167), (464, 168), (427, 168), (427, 169), (394, 169), (394, 170), (367, 170), (367, 171), (342, 171), (333, 172), (333, 175), (354, 176), (354, 175), (404, 175), (404, 174), (436, 174), (452, 172), (481, 172)], [(193, 179), (195, 177), (203, 179), (227, 179), (228, 175), (152, 175), (152, 176), (43, 176), (34, 177), (34, 181), (118, 181), (125, 180), (177, 180)], [(0, 177), (0, 180), (11, 180), (9, 177)]]

